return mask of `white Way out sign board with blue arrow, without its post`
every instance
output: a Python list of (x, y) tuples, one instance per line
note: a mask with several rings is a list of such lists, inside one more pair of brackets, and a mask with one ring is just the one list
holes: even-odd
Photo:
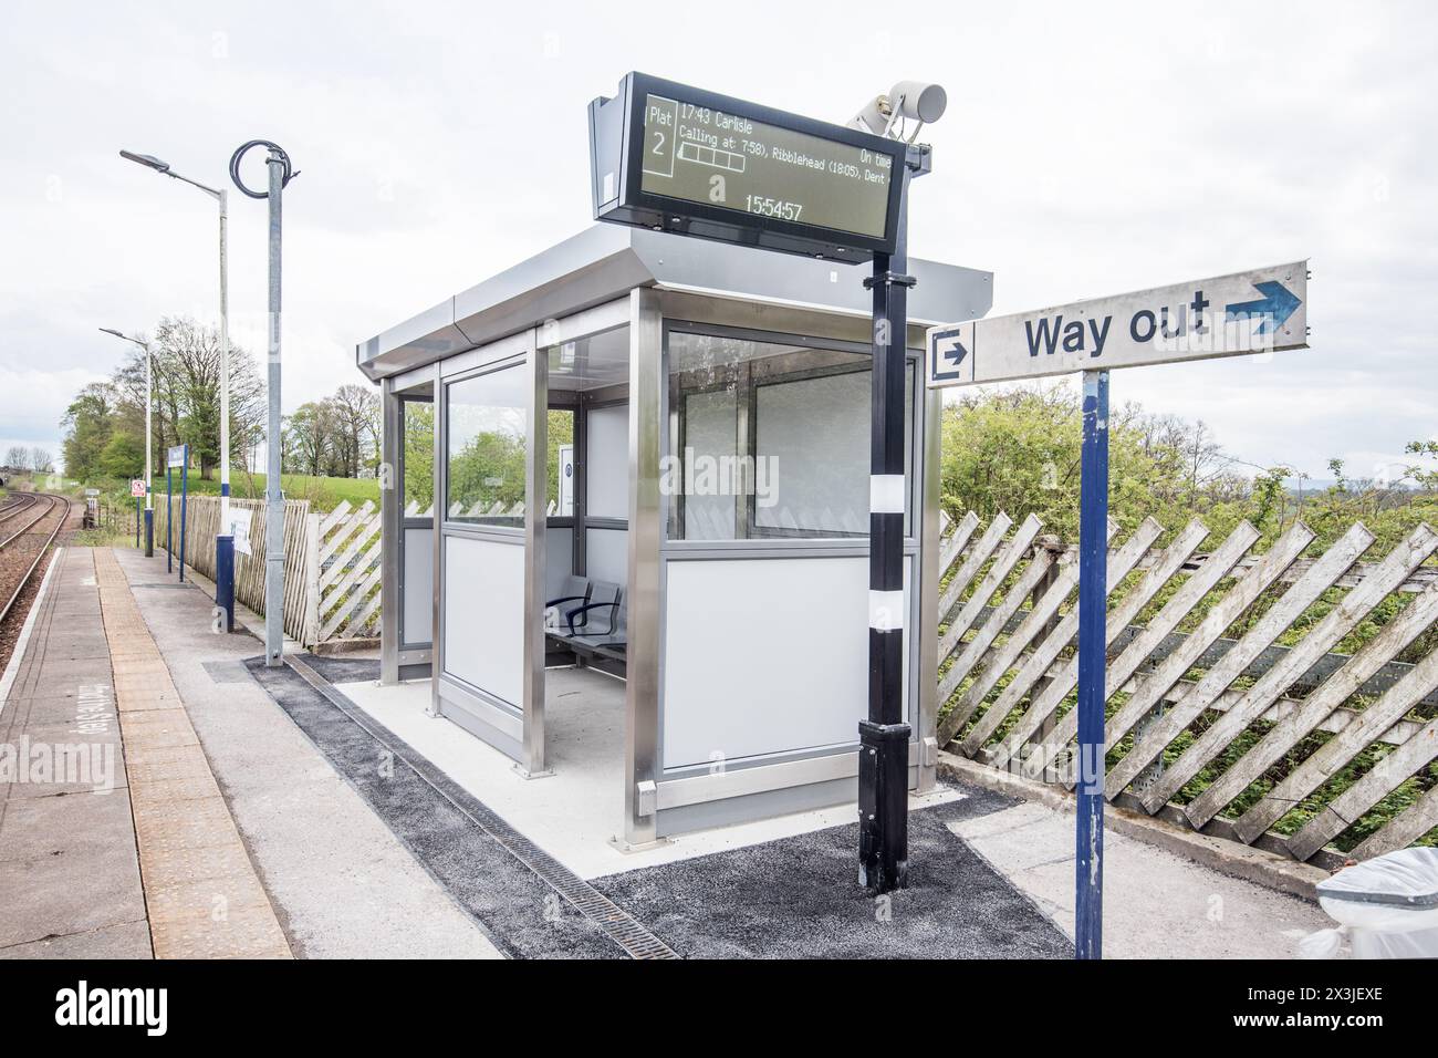
[(1309, 344), (1309, 262), (929, 328), (929, 386), (1038, 379)]

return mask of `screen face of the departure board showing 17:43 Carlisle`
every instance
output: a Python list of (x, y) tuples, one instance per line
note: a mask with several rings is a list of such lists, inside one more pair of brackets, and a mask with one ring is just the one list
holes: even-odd
[(889, 223), (893, 155), (661, 95), (644, 98), (640, 187), (874, 239)]

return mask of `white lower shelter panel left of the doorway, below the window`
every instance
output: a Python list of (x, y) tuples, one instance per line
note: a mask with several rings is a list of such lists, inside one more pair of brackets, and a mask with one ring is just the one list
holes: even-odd
[(525, 548), (444, 540), (444, 671), (519, 707), (525, 664)]

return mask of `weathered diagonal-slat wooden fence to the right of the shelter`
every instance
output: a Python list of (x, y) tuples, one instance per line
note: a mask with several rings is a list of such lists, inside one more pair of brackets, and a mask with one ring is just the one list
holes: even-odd
[[(939, 744), (1071, 789), (1077, 554), (1032, 515), (945, 523)], [(1155, 548), (1160, 534), (1149, 518), (1117, 540), (1110, 523), (1109, 800), (1322, 865), (1438, 826), (1438, 651), (1395, 661), (1438, 620), (1438, 533), (1419, 525), (1376, 561), (1360, 561), (1362, 524), (1317, 556), (1301, 523), (1264, 551), (1247, 523), (1211, 551), (1199, 521)], [(1336, 654), (1389, 599), (1405, 605)]]

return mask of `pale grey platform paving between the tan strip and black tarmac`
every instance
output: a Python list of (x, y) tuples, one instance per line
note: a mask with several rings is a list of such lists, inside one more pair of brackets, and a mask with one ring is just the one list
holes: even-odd
[(116, 548), (244, 845), (302, 957), (493, 959), (499, 950), (244, 669), (249, 633), (164, 556)]

